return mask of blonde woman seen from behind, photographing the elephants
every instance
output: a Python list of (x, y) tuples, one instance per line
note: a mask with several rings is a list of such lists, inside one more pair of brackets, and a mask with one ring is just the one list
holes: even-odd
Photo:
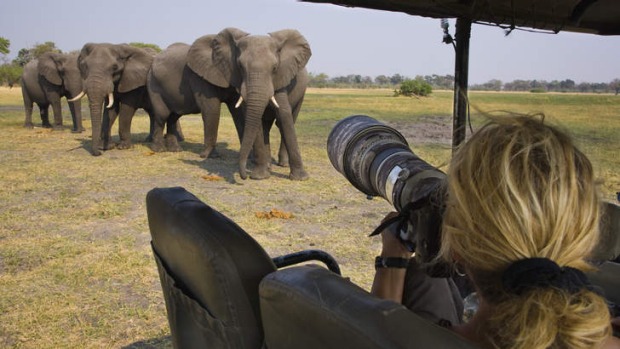
[(390, 263), (377, 265), (372, 292), (482, 348), (620, 348), (584, 274), (599, 205), (592, 165), (565, 133), (541, 118), (491, 117), (453, 156), (440, 251), (474, 284), (473, 318), (461, 322), (452, 280), (403, 267), (411, 253), (388, 232)]

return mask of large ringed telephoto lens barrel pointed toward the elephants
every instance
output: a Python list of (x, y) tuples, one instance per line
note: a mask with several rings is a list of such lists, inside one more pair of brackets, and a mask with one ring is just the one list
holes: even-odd
[(327, 138), (327, 153), (353, 186), (383, 197), (397, 210), (427, 196), (445, 177), (414, 154), (400, 132), (366, 115), (336, 123)]

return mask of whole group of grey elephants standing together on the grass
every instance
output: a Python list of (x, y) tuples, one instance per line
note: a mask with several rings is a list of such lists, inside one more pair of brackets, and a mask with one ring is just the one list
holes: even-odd
[[(204, 125), (201, 157), (217, 156), (215, 144), (222, 103), (233, 117), (240, 140), (239, 174), (270, 175), (269, 132), (281, 134), (278, 164), (290, 166), (289, 178), (308, 179), (295, 121), (308, 85), (306, 63), (312, 52), (293, 29), (250, 35), (226, 28), (192, 45), (175, 43), (162, 52), (125, 44), (88, 43), (79, 54), (46, 53), (24, 67), (22, 91), (25, 127), (32, 127), (32, 105), (41, 110), (44, 127), (62, 128), (60, 99), (66, 97), (73, 132), (82, 132), (81, 105), (88, 96), (93, 155), (111, 148), (111, 127), (119, 119), (119, 149), (131, 147), (131, 120), (136, 109), (150, 117), (148, 141), (154, 151), (180, 151), (179, 118), (200, 113)], [(47, 109), (52, 106), (53, 125)], [(164, 130), (166, 134), (164, 135)]]

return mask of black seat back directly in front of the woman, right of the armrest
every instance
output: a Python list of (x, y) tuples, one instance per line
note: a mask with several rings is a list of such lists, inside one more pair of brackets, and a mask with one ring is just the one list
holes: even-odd
[(260, 284), (265, 341), (278, 348), (475, 348), (404, 306), (324, 268), (299, 266)]

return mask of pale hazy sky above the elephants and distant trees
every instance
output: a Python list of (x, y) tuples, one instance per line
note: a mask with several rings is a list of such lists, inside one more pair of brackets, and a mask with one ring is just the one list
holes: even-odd
[[(454, 35), (455, 21), (450, 20)], [(265, 35), (297, 29), (312, 49), (308, 71), (359, 74), (454, 74), (454, 49), (439, 19), (296, 0), (1, 0), (0, 37), (21, 48), (52, 41), (62, 51), (87, 42), (191, 44), (236, 27)], [(491, 79), (610, 82), (620, 78), (620, 36), (541, 34), (472, 26), (469, 82)]]

